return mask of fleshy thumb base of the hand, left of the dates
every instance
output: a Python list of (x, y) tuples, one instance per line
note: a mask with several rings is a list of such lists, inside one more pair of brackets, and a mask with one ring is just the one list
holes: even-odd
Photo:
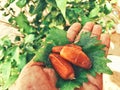
[(53, 69), (44, 68), (40, 62), (30, 61), (21, 71), (9, 90), (57, 90)]

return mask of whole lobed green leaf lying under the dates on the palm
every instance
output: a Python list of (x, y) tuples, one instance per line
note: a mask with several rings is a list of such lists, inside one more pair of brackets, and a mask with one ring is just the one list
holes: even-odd
[[(107, 63), (110, 62), (105, 57), (105, 47), (100, 43), (101, 41), (97, 37), (91, 37), (90, 32), (85, 32), (81, 34), (79, 42), (75, 43), (82, 47), (83, 51), (87, 54), (92, 62), (92, 67), (89, 70), (77, 67), (73, 65), (75, 70), (74, 80), (63, 80), (59, 75), (57, 75), (57, 87), (60, 90), (74, 90), (75, 88), (80, 87), (84, 82), (88, 81), (87, 74), (96, 76), (96, 73), (107, 73), (112, 74), (112, 71), (107, 66)], [(52, 66), (48, 55), (51, 52), (53, 46), (65, 45), (69, 41), (66, 37), (66, 32), (59, 29), (51, 29), (49, 34), (46, 36), (44, 43), (36, 54), (37, 58), (33, 58), (35, 61), (44, 62), (48, 67)]]

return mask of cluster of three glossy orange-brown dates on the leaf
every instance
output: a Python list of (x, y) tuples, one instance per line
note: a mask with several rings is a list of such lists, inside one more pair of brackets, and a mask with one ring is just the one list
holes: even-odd
[(56, 72), (65, 80), (75, 79), (74, 69), (71, 64), (84, 69), (90, 69), (92, 65), (82, 48), (75, 44), (53, 47), (49, 59)]

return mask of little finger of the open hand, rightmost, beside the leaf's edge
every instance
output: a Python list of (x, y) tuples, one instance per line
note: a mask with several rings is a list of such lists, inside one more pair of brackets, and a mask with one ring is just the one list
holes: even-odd
[(110, 36), (109, 34), (102, 34), (100, 37), (100, 40), (102, 41), (102, 44), (104, 44), (106, 47), (104, 48), (106, 55), (108, 54), (108, 50), (110, 47)]

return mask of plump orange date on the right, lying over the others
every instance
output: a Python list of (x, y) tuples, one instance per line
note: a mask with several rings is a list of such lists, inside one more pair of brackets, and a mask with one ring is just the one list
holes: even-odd
[(69, 44), (65, 45), (60, 51), (60, 56), (81, 68), (91, 68), (91, 61), (88, 56), (82, 51), (82, 48), (80, 46)]

